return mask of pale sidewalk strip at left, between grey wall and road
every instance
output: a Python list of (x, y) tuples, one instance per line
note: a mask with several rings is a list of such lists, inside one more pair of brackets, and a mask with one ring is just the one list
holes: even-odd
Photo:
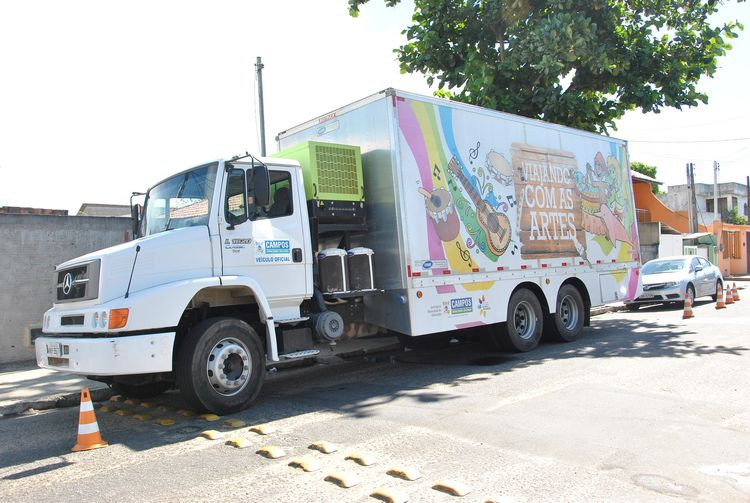
[(0, 416), (78, 405), (81, 387), (88, 386), (94, 401), (111, 394), (109, 387), (74, 374), (40, 369), (34, 362), (0, 367)]

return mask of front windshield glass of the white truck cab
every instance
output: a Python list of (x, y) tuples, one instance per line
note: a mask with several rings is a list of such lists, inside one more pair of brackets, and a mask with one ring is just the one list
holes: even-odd
[(154, 185), (146, 196), (141, 235), (208, 225), (217, 163), (206, 164)]

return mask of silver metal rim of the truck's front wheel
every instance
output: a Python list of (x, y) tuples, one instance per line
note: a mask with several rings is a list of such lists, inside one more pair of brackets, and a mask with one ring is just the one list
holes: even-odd
[(206, 359), (208, 382), (214, 391), (224, 396), (242, 391), (248, 383), (252, 367), (247, 346), (233, 337), (217, 342)]

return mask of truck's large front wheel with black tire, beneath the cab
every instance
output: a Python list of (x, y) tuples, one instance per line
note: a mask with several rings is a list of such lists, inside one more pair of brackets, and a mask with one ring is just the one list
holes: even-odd
[(177, 356), (177, 386), (199, 410), (231, 414), (258, 396), (266, 374), (263, 345), (244, 321), (209, 318), (188, 333)]

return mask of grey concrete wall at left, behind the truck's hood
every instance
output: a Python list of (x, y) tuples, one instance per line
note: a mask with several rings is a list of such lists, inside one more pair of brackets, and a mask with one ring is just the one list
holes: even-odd
[(30, 330), (52, 306), (54, 267), (122, 243), (129, 218), (0, 215), (0, 363), (34, 358)]

